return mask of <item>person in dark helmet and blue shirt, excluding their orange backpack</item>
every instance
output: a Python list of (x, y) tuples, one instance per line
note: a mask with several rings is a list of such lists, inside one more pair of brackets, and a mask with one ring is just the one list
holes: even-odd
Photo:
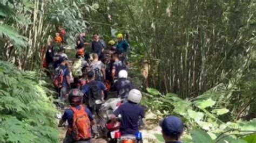
[[(82, 109), (82, 101), (83, 101), (83, 93), (79, 89), (72, 89), (69, 92), (69, 103), (72, 107), (75, 107), (77, 110)], [(85, 113), (87, 114), (87, 117), (90, 120), (90, 125), (95, 124), (95, 119), (92, 116), (92, 113), (89, 109), (84, 108)], [(72, 109), (66, 109), (64, 112), (64, 115), (62, 116), (62, 119), (59, 120), (59, 127), (63, 126), (65, 121), (68, 121), (69, 123), (69, 130), (66, 132), (66, 137), (64, 139), (64, 143), (70, 143), (70, 142), (75, 142), (73, 141), (71, 132), (72, 131), (72, 125), (73, 125), (73, 111)], [(90, 129), (89, 129), (90, 130)], [(91, 142), (91, 138), (87, 138), (84, 140), (79, 140), (76, 141), (76, 143), (89, 143)]]

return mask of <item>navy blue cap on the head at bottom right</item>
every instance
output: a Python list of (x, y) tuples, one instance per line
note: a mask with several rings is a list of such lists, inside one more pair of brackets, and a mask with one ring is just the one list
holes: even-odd
[(183, 122), (176, 116), (167, 116), (159, 121), (159, 126), (166, 135), (177, 135), (183, 132)]

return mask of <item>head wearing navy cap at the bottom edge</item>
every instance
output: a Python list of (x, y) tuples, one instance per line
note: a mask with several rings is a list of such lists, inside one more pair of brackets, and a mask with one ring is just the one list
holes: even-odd
[(184, 125), (180, 118), (167, 116), (160, 120), (159, 125), (165, 141), (178, 141), (183, 133)]

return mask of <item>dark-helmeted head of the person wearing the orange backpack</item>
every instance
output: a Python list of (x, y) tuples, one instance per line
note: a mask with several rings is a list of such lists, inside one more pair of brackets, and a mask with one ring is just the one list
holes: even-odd
[(69, 104), (71, 106), (81, 105), (83, 102), (83, 92), (79, 89), (72, 89), (69, 91)]

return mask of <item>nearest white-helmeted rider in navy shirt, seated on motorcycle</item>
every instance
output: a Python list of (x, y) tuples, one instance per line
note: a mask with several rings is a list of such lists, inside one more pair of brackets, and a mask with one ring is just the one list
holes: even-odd
[(144, 109), (138, 105), (141, 99), (142, 92), (132, 89), (127, 97), (128, 102), (120, 105), (113, 112), (111, 116), (112, 121), (115, 121), (119, 115), (122, 117), (120, 126), (121, 134), (136, 134), (139, 132), (139, 118), (144, 118)]

